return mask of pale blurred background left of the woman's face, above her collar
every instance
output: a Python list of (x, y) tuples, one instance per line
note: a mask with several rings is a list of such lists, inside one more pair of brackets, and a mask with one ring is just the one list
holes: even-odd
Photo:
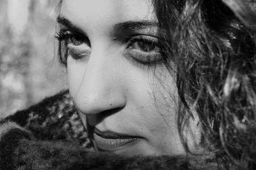
[(67, 88), (54, 40), (57, 4), (0, 1), (0, 118)]

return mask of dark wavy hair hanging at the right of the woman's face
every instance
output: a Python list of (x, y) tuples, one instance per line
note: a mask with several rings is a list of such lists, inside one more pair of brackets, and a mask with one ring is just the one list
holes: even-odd
[(179, 96), (188, 109), (179, 123), (195, 106), (208, 148), (242, 169), (256, 168), (256, 2), (155, 5), (164, 51), (177, 65)]

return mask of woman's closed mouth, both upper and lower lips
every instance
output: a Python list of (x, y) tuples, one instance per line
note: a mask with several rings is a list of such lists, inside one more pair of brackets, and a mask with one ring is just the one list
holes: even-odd
[(129, 148), (138, 143), (141, 137), (116, 132), (93, 130), (93, 139), (99, 151), (116, 151)]

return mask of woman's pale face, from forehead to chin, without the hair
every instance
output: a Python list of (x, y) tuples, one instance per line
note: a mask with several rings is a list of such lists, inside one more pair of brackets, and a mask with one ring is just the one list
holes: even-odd
[(70, 95), (98, 150), (183, 154), (150, 1), (64, 0), (58, 22)]

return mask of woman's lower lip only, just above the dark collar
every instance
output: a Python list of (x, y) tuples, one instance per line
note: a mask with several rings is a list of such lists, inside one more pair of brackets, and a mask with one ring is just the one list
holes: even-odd
[(125, 137), (125, 138), (111, 139), (111, 138), (101, 137), (95, 133), (93, 134), (93, 138), (97, 148), (103, 151), (121, 150), (123, 148), (132, 146), (133, 144), (137, 143), (140, 140), (139, 137)]

